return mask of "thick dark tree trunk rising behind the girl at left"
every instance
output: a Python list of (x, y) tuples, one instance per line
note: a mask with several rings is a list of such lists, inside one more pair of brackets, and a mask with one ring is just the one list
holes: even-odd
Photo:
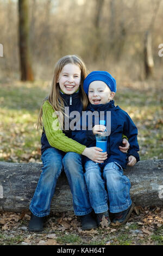
[(28, 0), (18, 0), (18, 16), (21, 80), (33, 81), (29, 54)]

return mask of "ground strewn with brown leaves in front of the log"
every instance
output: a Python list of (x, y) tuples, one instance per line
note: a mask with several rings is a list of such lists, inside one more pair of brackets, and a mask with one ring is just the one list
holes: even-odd
[[(156, 245), (158, 231), (162, 232), (159, 239), (163, 235), (163, 208), (156, 206), (135, 206), (128, 222), (120, 227), (105, 227), (103, 220), (101, 228), (82, 230), (78, 218), (73, 212), (67, 212), (49, 216), (45, 229), (40, 233), (33, 233), (28, 231), (29, 220), (28, 210), (21, 214), (0, 211), (0, 245), (89, 245), (97, 241), (102, 241), (103, 245), (121, 245), (128, 240), (132, 245)], [(68, 240), (66, 237), (69, 236), (77, 236), (80, 241)], [(108, 241), (106, 237), (109, 237)], [(163, 239), (159, 243), (163, 244)]]

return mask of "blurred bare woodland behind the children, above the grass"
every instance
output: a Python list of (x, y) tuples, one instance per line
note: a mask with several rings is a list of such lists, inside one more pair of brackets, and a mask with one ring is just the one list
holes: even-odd
[[(60, 57), (78, 54), (90, 71), (108, 70), (120, 81), (143, 80), (147, 32), (152, 39), (153, 75), (162, 79), (163, 58), (158, 55), (163, 42), (161, 0), (28, 0), (28, 4), (35, 79), (51, 80)], [(17, 1), (0, 0), (0, 14), (1, 77), (18, 79)]]

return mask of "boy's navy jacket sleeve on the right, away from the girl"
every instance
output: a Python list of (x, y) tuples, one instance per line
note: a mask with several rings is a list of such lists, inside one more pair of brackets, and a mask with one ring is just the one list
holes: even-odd
[(137, 162), (140, 161), (139, 153), (137, 153), (137, 151), (139, 151), (139, 144), (137, 142), (137, 127), (127, 113), (123, 133), (128, 137), (128, 142), (130, 144), (127, 156), (133, 155), (135, 156)]

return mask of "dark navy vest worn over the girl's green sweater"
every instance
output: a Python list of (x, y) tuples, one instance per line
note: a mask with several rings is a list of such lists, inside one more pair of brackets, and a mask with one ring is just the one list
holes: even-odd
[[(80, 116), (82, 115), (83, 104), (82, 104), (82, 101), (80, 100), (80, 91), (72, 95), (67, 95), (60, 92), (60, 95), (64, 100), (65, 107), (69, 107), (69, 114), (72, 111), (78, 111), (80, 113)], [(69, 119), (69, 124), (72, 119)], [(67, 137), (69, 138), (72, 137), (70, 129), (66, 131), (63, 130), (63, 132)], [(49, 144), (45, 131), (43, 129), (42, 136), (41, 136), (41, 155), (48, 148), (52, 148), (52, 146)]]

